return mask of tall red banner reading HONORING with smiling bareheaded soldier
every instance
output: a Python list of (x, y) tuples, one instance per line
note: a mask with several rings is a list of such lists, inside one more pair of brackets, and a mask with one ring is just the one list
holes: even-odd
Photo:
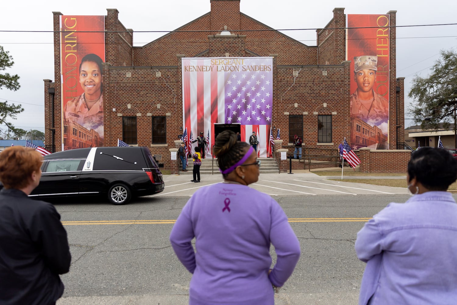
[(60, 16), (62, 144), (103, 146), (105, 17)]

